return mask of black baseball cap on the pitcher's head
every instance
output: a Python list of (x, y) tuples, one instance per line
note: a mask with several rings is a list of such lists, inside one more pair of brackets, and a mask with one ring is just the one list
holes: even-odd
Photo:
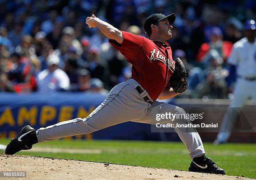
[(157, 13), (157, 14), (152, 14), (148, 16), (144, 23), (145, 32), (146, 33), (148, 32), (148, 30), (151, 28), (151, 24), (156, 24), (158, 21), (163, 20), (165, 18), (167, 18), (167, 20), (169, 21), (169, 24), (173, 24), (176, 19), (176, 16), (174, 13), (169, 15), (163, 15), (163, 14)]

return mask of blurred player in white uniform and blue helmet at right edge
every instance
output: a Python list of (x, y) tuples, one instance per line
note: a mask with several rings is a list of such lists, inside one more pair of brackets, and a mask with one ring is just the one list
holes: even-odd
[[(233, 91), (233, 99), (230, 108), (226, 112), (221, 124), (220, 132), (215, 145), (225, 143), (230, 137), (233, 124), (240, 113), (239, 107), (243, 107), (246, 99), (251, 97), (256, 101), (256, 23), (255, 20), (247, 20), (245, 36), (237, 41), (232, 49), (228, 63), (230, 70), (236, 71), (236, 85)], [(238, 108), (236, 108), (238, 107)]]

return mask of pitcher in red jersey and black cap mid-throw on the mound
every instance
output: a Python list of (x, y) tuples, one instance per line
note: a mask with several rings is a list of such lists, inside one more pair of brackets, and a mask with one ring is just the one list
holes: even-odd
[[(153, 14), (146, 18), (144, 29), (148, 38), (120, 31), (95, 15), (86, 18), (89, 28), (99, 28), (109, 43), (120, 51), (132, 66), (132, 76), (115, 86), (88, 117), (60, 122), (33, 129), (25, 126), (11, 140), (5, 154), (13, 155), (28, 150), (33, 144), (61, 137), (88, 134), (122, 122), (156, 123), (156, 114), (171, 112), (185, 114), (180, 107), (156, 101), (169, 99), (187, 89), (187, 72), (182, 61), (172, 59), (172, 50), (166, 41), (172, 38), (175, 15)], [(190, 121), (188, 119), (188, 121)], [(175, 127), (187, 146), (192, 162), (189, 171), (225, 174), (225, 171), (206, 157), (197, 132), (186, 132)]]

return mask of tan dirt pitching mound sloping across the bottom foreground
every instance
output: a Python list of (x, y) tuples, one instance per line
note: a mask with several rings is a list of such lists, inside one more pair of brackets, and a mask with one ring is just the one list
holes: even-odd
[[(0, 167), (0, 171), (26, 171), (27, 176), (22, 179), (29, 180), (250, 180), (245, 177), (25, 155), (0, 154)], [(20, 177), (9, 179), (20, 180)]]

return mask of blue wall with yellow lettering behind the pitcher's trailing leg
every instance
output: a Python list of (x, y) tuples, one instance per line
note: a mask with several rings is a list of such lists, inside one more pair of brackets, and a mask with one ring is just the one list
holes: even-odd
[[(96, 93), (0, 93), (0, 138), (15, 137), (25, 125), (35, 129), (87, 117), (105, 99)], [(176, 133), (151, 133), (149, 124), (126, 122), (66, 139), (178, 140)]]

